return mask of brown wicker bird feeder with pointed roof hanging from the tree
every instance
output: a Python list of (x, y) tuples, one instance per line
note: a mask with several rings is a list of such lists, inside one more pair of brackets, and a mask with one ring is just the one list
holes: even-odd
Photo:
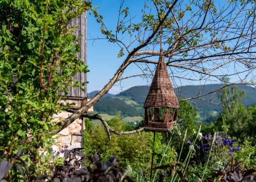
[(174, 93), (162, 48), (145, 108), (145, 130), (170, 131), (177, 121), (180, 104)]

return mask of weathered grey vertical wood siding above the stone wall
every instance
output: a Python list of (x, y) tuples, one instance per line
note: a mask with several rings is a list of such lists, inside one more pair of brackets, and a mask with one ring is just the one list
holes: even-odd
[[(78, 28), (74, 32), (76, 37), (82, 35), (79, 39), (78, 43), (81, 46), (81, 51), (76, 54), (76, 56), (83, 60), (84, 64), (87, 64), (87, 14), (84, 12), (80, 17), (72, 20), (70, 23), (71, 26), (77, 26)], [(85, 73), (76, 73), (73, 77), (78, 80), (80, 83), (86, 82), (86, 74)], [(70, 94), (66, 95), (68, 97), (78, 97), (78, 98), (87, 98), (87, 84), (84, 84), (82, 87), (84, 91), (80, 89), (81, 87), (68, 87)]]

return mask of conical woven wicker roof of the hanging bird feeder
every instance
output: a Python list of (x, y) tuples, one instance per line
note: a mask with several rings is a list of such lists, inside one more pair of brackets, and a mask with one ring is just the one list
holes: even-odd
[(159, 56), (155, 76), (144, 103), (144, 108), (148, 107), (180, 107), (162, 55)]

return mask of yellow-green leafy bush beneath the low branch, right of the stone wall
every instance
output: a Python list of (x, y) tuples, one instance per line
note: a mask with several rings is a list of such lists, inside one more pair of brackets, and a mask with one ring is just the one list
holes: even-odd
[[(131, 129), (131, 125), (125, 124), (120, 119), (120, 115), (107, 120), (107, 123), (116, 131)], [(150, 132), (142, 132), (142, 139), (136, 133), (122, 136), (112, 134), (111, 137), (112, 139), (109, 141), (103, 126), (92, 126), (88, 131), (84, 132), (86, 153), (90, 154), (91, 151), (99, 152), (103, 160), (107, 160), (108, 156), (117, 154), (117, 160), (123, 164), (123, 167), (127, 165), (134, 167), (138, 165), (138, 160), (133, 153), (136, 153), (137, 150), (148, 149), (148, 139), (151, 138), (151, 134)], [(147, 154), (147, 156), (150, 156), (150, 154)]]

